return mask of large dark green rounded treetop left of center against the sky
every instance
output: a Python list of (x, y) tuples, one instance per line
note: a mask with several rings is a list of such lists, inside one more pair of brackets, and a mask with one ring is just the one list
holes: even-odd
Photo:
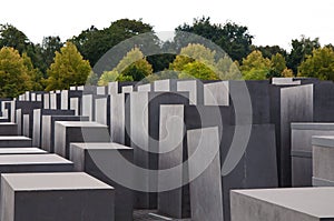
[(89, 60), (91, 66), (95, 66), (114, 46), (131, 37), (151, 31), (153, 27), (141, 20), (120, 19), (102, 30), (92, 26), (78, 37), (73, 37), (71, 41), (77, 46), (84, 58)]

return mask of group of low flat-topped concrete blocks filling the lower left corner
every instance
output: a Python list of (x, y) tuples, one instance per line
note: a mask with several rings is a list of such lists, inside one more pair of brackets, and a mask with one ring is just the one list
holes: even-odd
[(31, 147), (29, 138), (0, 137), (2, 221), (132, 220), (132, 191), (107, 175), (121, 173), (120, 154), (132, 162), (132, 149), (110, 142), (71, 145), (69, 161), (24, 148)]

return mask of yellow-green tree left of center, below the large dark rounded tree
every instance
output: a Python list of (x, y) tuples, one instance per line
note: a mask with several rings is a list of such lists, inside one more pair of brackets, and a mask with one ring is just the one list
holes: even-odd
[(105, 71), (99, 86), (110, 81), (140, 81), (153, 73), (151, 64), (146, 60), (139, 48), (131, 49), (111, 71)]

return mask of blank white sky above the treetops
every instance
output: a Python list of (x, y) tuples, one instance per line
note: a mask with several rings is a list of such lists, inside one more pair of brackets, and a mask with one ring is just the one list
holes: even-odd
[(122, 18), (141, 18), (158, 32), (206, 16), (215, 23), (247, 26), (256, 46), (289, 49), (301, 34), (334, 44), (334, 0), (4, 0), (0, 6), (0, 23), (13, 24), (35, 43), (46, 36), (65, 41)]

